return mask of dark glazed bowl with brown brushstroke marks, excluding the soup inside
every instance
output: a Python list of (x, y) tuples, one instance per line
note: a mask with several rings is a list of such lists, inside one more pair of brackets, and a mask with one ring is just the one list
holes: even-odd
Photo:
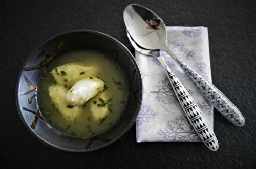
[[(109, 131), (89, 140), (57, 134), (40, 114), (36, 96), (37, 77), (47, 64), (59, 55), (82, 49), (93, 49), (109, 55), (121, 66), (129, 85), (129, 100), (120, 120)], [(131, 52), (122, 43), (100, 32), (78, 30), (52, 37), (32, 51), (18, 77), (16, 102), (24, 125), (41, 142), (60, 150), (87, 152), (110, 145), (132, 127), (142, 102), (142, 91), (139, 68)]]

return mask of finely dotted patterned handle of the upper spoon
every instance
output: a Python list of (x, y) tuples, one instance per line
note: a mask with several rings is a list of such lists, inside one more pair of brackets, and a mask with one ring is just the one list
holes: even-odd
[(245, 124), (245, 119), (239, 109), (212, 83), (197, 74), (193, 69), (185, 65), (179, 59), (176, 60), (182, 69), (193, 80), (209, 102), (219, 110), (230, 122), (238, 126)]

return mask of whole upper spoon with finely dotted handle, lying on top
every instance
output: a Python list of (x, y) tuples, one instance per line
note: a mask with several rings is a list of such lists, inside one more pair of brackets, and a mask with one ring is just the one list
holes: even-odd
[(125, 8), (123, 19), (127, 31), (139, 46), (148, 50), (166, 51), (224, 117), (238, 126), (245, 124), (239, 109), (217, 87), (179, 60), (177, 55), (168, 48), (166, 26), (160, 17), (146, 7), (131, 4)]

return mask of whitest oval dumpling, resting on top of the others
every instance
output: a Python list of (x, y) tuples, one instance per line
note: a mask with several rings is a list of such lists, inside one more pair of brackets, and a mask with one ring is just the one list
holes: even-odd
[(68, 91), (66, 101), (70, 105), (83, 105), (105, 89), (105, 82), (97, 77), (87, 77), (77, 81)]

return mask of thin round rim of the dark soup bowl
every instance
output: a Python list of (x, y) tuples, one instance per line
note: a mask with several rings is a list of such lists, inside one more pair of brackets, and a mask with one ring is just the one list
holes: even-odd
[[(22, 72), (23, 72), (23, 68), (25, 67), (27, 61), (30, 58), (31, 53), (33, 53), (34, 51), (38, 50), (41, 46), (45, 45), (46, 43), (48, 43), (49, 41), (58, 38), (60, 36), (63, 35), (67, 35), (67, 34), (72, 34), (72, 33), (92, 33), (92, 34), (97, 34), (100, 35), (102, 37), (108, 38), (109, 40), (113, 41), (116, 43), (116, 45), (120, 48), (123, 48), (123, 50), (127, 53), (127, 56), (130, 58), (130, 60), (133, 63), (133, 66), (135, 67), (137, 74), (138, 74), (138, 78), (139, 78), (139, 97), (138, 97), (138, 105), (136, 107), (135, 113), (132, 117), (132, 119), (130, 120), (129, 124), (124, 128), (124, 130), (122, 130), (116, 137), (114, 137), (113, 139), (111, 139), (109, 142), (106, 142), (106, 144), (103, 144), (99, 147), (90, 149), (90, 150), (86, 150), (86, 149), (81, 149), (81, 150), (72, 150), (72, 149), (68, 149), (68, 148), (63, 148), (60, 146), (56, 146), (50, 142), (47, 142), (47, 140), (45, 140), (44, 138), (40, 137), (39, 134), (37, 134), (33, 129), (31, 129), (31, 127), (26, 123), (24, 116), (22, 115), (22, 109), (19, 105), (19, 97), (18, 97), (18, 87), (19, 87), (19, 83), (22, 77)], [(112, 143), (116, 142), (116, 140), (118, 140), (119, 138), (121, 138), (127, 131), (129, 131), (131, 129), (131, 127), (133, 126), (138, 114), (139, 114), (139, 110), (142, 104), (142, 99), (143, 99), (143, 85), (142, 85), (143, 81), (142, 81), (142, 76), (141, 76), (141, 72), (140, 69), (135, 61), (135, 58), (133, 56), (133, 54), (131, 53), (131, 51), (124, 45), (122, 44), (120, 41), (118, 41), (117, 39), (113, 38), (112, 36), (99, 32), (99, 31), (94, 31), (94, 30), (87, 30), (87, 29), (77, 29), (77, 30), (70, 30), (70, 31), (65, 31), (59, 34), (55, 34), (55, 36), (50, 37), (49, 39), (45, 40), (44, 42), (40, 43), (36, 48), (34, 48), (26, 57), (23, 65), (22, 65), (22, 69), (19, 71), (18, 73), (18, 78), (17, 78), (17, 82), (16, 82), (16, 89), (15, 89), (15, 95), (16, 95), (16, 106), (18, 109), (18, 114), (20, 119), (22, 119), (22, 122), (24, 124), (24, 126), (27, 128), (27, 130), (35, 137), (37, 138), (41, 143), (49, 146), (49, 147), (53, 147), (56, 148), (58, 150), (63, 150), (63, 151), (68, 151), (68, 152), (91, 152), (91, 151), (95, 151), (98, 149), (102, 149), (106, 146), (111, 145)]]

